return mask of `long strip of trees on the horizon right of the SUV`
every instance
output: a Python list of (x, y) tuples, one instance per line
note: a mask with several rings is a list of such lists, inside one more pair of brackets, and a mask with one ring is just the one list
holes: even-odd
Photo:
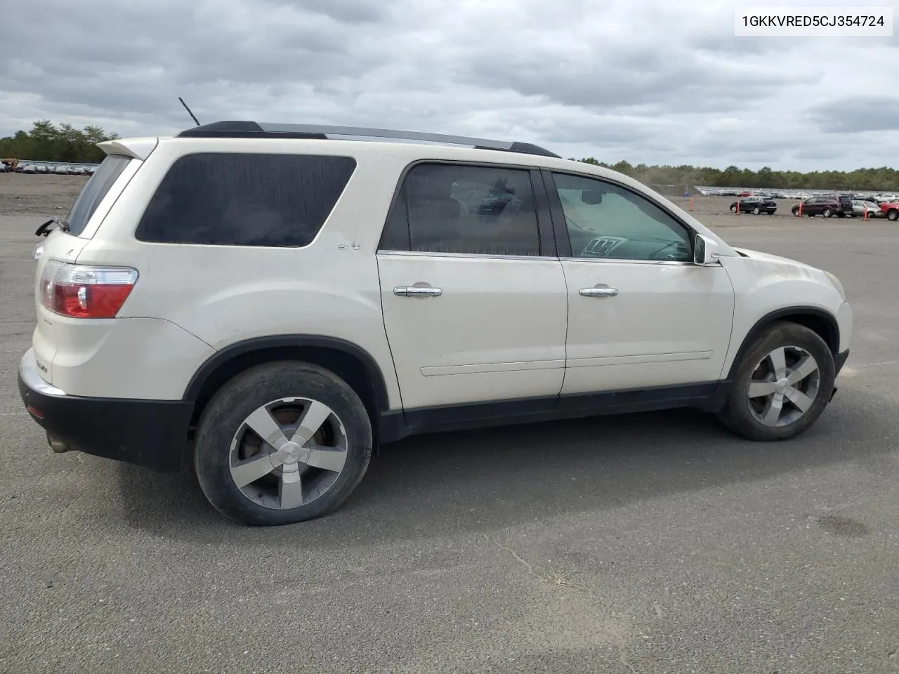
[(883, 166), (855, 171), (774, 171), (764, 166), (758, 171), (728, 166), (723, 171), (710, 166), (655, 166), (621, 161), (606, 164), (593, 157), (578, 161), (604, 166), (647, 185), (672, 185), (686, 191), (694, 185), (707, 187), (758, 187), (781, 190), (899, 191), (899, 171)]

